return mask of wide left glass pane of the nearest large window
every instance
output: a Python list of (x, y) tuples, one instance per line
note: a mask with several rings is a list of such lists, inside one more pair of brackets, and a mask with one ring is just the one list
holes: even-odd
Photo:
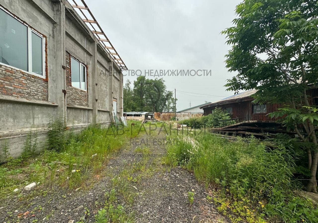
[(28, 71), (28, 28), (0, 9), (0, 62)]

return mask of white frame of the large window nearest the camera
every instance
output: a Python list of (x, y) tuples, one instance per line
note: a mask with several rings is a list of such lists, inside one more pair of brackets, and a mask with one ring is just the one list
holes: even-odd
[[(45, 65), (46, 65), (46, 63), (45, 63), (45, 57), (46, 57), (45, 56), (45, 37), (42, 36), (40, 33), (38, 33), (36, 30), (31, 29), (26, 23), (22, 22), (20, 19), (17, 18), (17, 16), (14, 16), (12, 13), (5, 10), (3, 7), (0, 6), (0, 9), (2, 9), (4, 12), (9, 14), (10, 16), (15, 18), (17, 21), (19, 21), (20, 23), (22, 23), (23, 25), (25, 25), (28, 28), (28, 36), (27, 36), (27, 38), (28, 38), (28, 70), (23, 70), (23, 69), (20, 69), (17, 67), (13, 67), (13, 66), (10, 66), (10, 65), (2, 63), (2, 62), (0, 62), (0, 65), (10, 67), (10, 68), (13, 68), (16, 70), (22, 70), (23, 72), (25, 72), (27, 74), (42, 77), (43, 79), (45, 79), (46, 78), (46, 74), (45, 74)], [(32, 72), (32, 32), (42, 38), (42, 74), (43, 75), (39, 75), (37, 73)]]

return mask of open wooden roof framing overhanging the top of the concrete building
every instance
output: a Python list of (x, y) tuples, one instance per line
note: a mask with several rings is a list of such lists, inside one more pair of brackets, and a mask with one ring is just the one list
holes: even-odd
[[(109, 55), (114, 59), (114, 62), (120, 67), (120, 69), (128, 70), (126, 64), (121, 59), (113, 44), (109, 41), (106, 34), (96, 21), (93, 16), (91, 10), (89, 10), (88, 6), (84, 2), (84, 0), (68, 0), (73, 6), (74, 10), (81, 16), (85, 23), (88, 23), (88, 27), (92, 28), (93, 35), (99, 40), (99, 42), (104, 47), (105, 51), (109, 53)], [(76, 1), (81, 2), (83, 5), (79, 5)]]

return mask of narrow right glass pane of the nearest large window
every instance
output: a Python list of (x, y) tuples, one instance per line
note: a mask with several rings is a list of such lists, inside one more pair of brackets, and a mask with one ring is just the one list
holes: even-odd
[(32, 32), (32, 72), (43, 76), (42, 38)]

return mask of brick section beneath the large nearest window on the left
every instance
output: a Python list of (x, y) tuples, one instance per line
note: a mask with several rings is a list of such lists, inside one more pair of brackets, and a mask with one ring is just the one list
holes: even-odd
[(48, 81), (19, 69), (0, 65), (0, 95), (30, 101), (48, 101)]

